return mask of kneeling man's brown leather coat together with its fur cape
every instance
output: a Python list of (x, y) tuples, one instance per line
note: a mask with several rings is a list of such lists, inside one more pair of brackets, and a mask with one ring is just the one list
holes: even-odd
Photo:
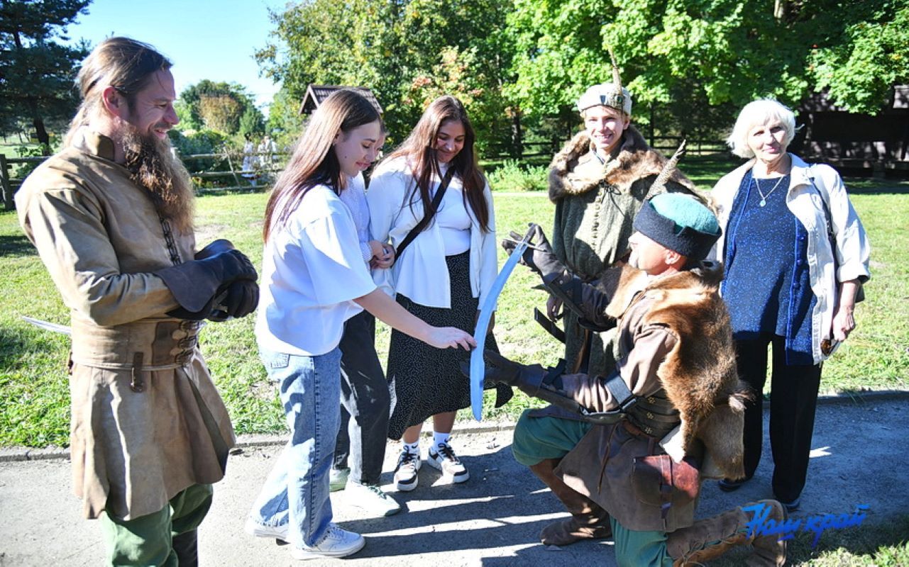
[[(675, 446), (667, 448), (676, 462), (683, 456), (702, 461), (702, 479), (743, 475), (745, 388), (735, 368), (729, 315), (719, 296), (722, 279), (723, 269), (711, 262), (649, 281), (644, 272), (625, 267), (617, 286), (612, 279), (607, 284), (611, 289), (604, 289), (612, 296), (606, 314), (619, 319), (621, 376), (637, 396), (664, 390), (681, 419)], [(563, 376), (563, 384), (582, 406), (615, 408), (602, 378)], [(654, 446), (654, 455), (664, 453)], [(693, 523), (696, 500), (674, 491), (664, 516), (658, 483), (648, 488), (635, 478), (634, 459), (645, 455), (651, 455), (648, 442), (623, 425), (594, 425), (558, 472), (628, 529), (671, 532)]]

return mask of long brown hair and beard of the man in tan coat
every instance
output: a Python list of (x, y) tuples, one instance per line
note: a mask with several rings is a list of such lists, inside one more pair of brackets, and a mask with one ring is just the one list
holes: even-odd
[[(102, 93), (113, 86), (125, 98), (129, 112), (135, 112), (136, 95), (154, 80), (155, 73), (167, 71), (171, 62), (143, 44), (127, 37), (106, 39), (92, 51), (76, 76), (82, 103), (70, 122), (64, 145), (77, 140), (76, 132), (87, 126), (98, 112), (105, 112)], [(181, 232), (193, 230), (193, 187), (183, 162), (171, 150), (169, 139), (158, 140), (125, 124), (121, 132), (125, 167), (130, 179), (148, 191), (158, 214), (174, 222)]]

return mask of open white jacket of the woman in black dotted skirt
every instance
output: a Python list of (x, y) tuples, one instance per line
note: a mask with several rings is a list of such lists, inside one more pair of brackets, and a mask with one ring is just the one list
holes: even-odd
[[(434, 178), (432, 183), (435, 188), (439, 180)], [(405, 205), (405, 199), (414, 186), (414, 177), (404, 158), (385, 161), (376, 169), (369, 182), (369, 191), (366, 191), (373, 239), (380, 242), (390, 239), (397, 249), (407, 233), (423, 219), (422, 203), (416, 202), (413, 208)], [(460, 191), (462, 188), (461, 179), (454, 176), (447, 191)], [(484, 196), (488, 207), (489, 232), (480, 228), (473, 211), (467, 207), (470, 217), (470, 287), (481, 306), (498, 274), (493, 194), (489, 183), (484, 187)], [(445, 242), (438, 223), (434, 220), (418, 234), (402, 257), (395, 259), (391, 269), (374, 269), (373, 279), (386, 292), (402, 293), (420, 305), (451, 308)]]

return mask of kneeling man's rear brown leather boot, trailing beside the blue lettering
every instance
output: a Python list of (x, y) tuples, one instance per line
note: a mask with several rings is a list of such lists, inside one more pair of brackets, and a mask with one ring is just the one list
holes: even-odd
[(745, 564), (754, 567), (783, 565), (786, 561), (786, 543), (779, 541), (779, 534), (749, 536), (747, 524), (754, 513), (745, 512), (743, 508), (755, 504), (764, 504), (770, 508), (762, 523), (769, 520), (777, 524), (785, 521), (783, 505), (775, 500), (747, 503), (713, 518), (699, 520), (669, 534), (666, 551), (674, 559), (674, 566), (700, 565), (737, 545), (749, 543), (754, 547), (754, 554), (745, 560)]

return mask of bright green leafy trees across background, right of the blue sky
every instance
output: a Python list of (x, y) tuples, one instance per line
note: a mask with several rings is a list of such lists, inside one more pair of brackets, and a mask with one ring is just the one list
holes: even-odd
[(610, 46), (636, 122), (702, 137), (758, 97), (797, 106), (827, 89), (874, 113), (909, 81), (906, 0), (305, 0), (272, 17), (256, 57), (285, 96), (369, 87), (393, 142), (440, 93), (461, 98), (488, 141), (521, 120), (570, 131), (577, 97), (611, 80)]

